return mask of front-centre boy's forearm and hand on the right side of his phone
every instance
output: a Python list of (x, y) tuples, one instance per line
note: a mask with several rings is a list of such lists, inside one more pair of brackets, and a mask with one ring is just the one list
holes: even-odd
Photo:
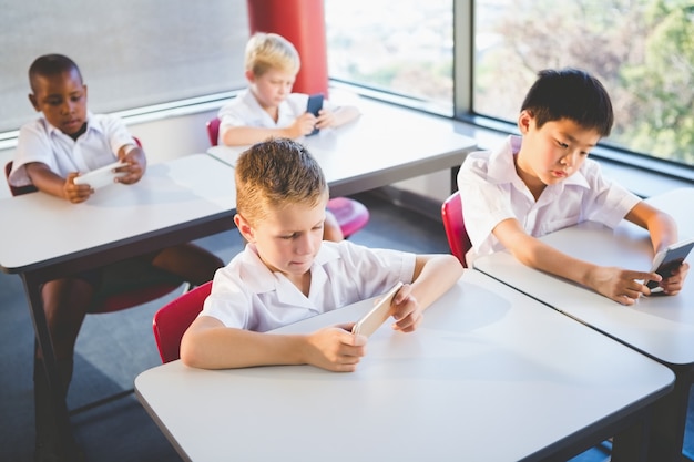
[(417, 255), (412, 284), (405, 285), (392, 299), (395, 328), (411, 332), (423, 311), (446, 294), (462, 276), (462, 265), (452, 255)]

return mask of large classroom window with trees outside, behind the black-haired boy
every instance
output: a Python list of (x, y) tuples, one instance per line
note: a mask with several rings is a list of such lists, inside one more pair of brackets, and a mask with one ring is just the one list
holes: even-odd
[[(694, 165), (690, 0), (326, 0), (330, 76), (450, 107), (453, 2), (472, 11), (456, 27), (473, 29), (470, 63), (456, 63), (455, 82), (471, 95), (456, 114), (512, 124), (538, 71), (582, 68), (613, 99), (604, 145), (634, 163)], [(456, 45), (455, 59), (466, 59)]]

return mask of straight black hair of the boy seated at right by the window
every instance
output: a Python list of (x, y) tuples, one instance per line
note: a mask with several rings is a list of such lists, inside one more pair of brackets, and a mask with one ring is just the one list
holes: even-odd
[(528, 110), (538, 129), (569, 119), (584, 129), (609, 136), (614, 123), (612, 102), (598, 79), (579, 69), (543, 70), (528, 91), (521, 112)]

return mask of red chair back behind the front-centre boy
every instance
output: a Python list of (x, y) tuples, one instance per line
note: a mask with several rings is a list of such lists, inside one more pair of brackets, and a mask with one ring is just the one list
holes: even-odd
[(162, 362), (181, 358), (181, 339), (188, 326), (203, 309), (203, 302), (212, 290), (212, 281), (164, 305), (154, 314), (152, 330)]

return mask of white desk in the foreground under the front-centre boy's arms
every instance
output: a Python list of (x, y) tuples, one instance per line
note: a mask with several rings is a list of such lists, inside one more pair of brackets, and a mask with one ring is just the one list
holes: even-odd
[[(357, 319), (370, 301), (280, 331)], [(467, 270), (414, 333), (384, 325), (354, 373), (310, 366), (141, 373), (139, 399), (192, 461), (565, 460), (640, 422), (667, 368)], [(622, 446), (624, 448), (624, 446)], [(636, 460), (639, 448), (623, 460)], [(613, 459), (616, 460), (616, 459)]]

